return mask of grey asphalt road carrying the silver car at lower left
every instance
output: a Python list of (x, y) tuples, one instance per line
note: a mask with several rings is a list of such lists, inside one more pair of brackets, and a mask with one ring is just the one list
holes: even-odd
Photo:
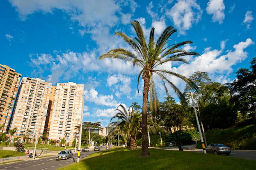
[[(102, 150), (105, 150), (106, 148), (102, 148)], [(90, 154), (94, 153), (94, 151), (89, 151), (89, 152), (81, 152), (80, 158), (84, 158), (89, 156)], [(33, 169), (33, 170), (53, 170), (53, 169), (58, 169), (63, 166), (70, 165), (77, 160), (77, 153), (73, 154), (73, 159), (69, 158), (67, 160), (56, 160), (56, 157), (47, 157), (47, 158), (41, 158), (41, 159), (36, 159), (36, 160), (30, 160), (28, 161), (20, 161), (20, 162), (15, 162), (11, 164), (4, 164), (0, 166), (0, 170), (8, 170), (8, 169), (19, 169), (19, 170), (28, 170), (28, 169)]]

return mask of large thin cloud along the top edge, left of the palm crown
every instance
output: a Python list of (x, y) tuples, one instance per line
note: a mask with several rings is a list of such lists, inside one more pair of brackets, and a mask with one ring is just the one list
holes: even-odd
[[(92, 35), (96, 41), (100, 53), (105, 53), (110, 48), (120, 47), (124, 42), (110, 33), (112, 27), (119, 24), (119, 21), (127, 23), (131, 13), (122, 15), (122, 7), (130, 6), (133, 13), (137, 4), (133, 0), (9, 0), (12, 6), (19, 12), (20, 19), (27, 19), (28, 15), (34, 12), (54, 13), (61, 10), (70, 19), (83, 29), (79, 33)], [(120, 14), (122, 17), (119, 17)], [(69, 26), (70, 27), (70, 26)], [(74, 30), (72, 30), (73, 32)]]

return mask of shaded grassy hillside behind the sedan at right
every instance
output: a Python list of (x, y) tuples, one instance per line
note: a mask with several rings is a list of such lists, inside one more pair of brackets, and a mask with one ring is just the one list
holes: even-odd
[[(208, 144), (224, 143), (231, 149), (256, 150), (256, 125), (209, 130), (205, 136)], [(200, 142), (197, 148), (202, 148)]]

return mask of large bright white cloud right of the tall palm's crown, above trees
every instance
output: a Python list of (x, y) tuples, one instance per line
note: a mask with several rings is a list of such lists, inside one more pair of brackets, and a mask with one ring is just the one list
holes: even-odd
[(254, 42), (248, 38), (245, 42), (235, 44), (234, 50), (228, 50), (227, 54), (221, 55), (225, 48), (224, 42), (226, 43), (226, 41), (222, 41), (220, 50), (208, 49), (201, 56), (195, 57), (189, 64), (173, 67), (172, 70), (185, 76), (190, 76), (196, 71), (205, 71), (212, 75), (213, 81), (217, 80), (217, 75), (228, 76), (232, 72), (232, 66), (247, 58), (247, 52), (244, 49)]

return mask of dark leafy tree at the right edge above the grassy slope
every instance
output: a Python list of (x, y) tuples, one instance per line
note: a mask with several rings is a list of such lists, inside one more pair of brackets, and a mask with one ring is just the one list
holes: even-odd
[(240, 68), (229, 85), (235, 109), (256, 123), (256, 58), (252, 59), (250, 68)]

